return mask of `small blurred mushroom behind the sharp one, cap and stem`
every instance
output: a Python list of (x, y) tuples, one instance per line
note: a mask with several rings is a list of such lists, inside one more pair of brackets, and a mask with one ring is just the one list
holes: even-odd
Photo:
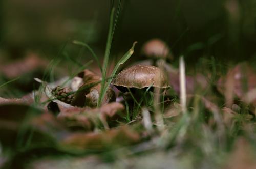
[(153, 60), (154, 66), (162, 65), (166, 60), (172, 59), (168, 45), (160, 39), (147, 41), (142, 47), (142, 54)]

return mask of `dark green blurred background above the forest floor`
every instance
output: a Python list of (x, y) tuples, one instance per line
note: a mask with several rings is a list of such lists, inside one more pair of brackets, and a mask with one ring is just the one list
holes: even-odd
[[(93, 59), (72, 43), (85, 42), (103, 57), (111, 6), (118, 1), (9, 0), (0, 1), (0, 67), (36, 53), (51, 60), (56, 55), (81, 64)], [(143, 43), (164, 40), (174, 55), (184, 55), (187, 66), (214, 57), (222, 63), (256, 63), (256, 1), (168, 0), (121, 1), (111, 59), (138, 41), (134, 62)], [(69, 61), (67, 60), (67, 61)], [(3, 72), (3, 69), (1, 69)], [(13, 76), (14, 78), (15, 76)], [(12, 78), (10, 78), (12, 79)]]

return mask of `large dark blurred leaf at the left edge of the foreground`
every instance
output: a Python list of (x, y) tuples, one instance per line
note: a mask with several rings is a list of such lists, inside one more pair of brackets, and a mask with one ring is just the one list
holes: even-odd
[[(61, 131), (61, 132), (60, 132)], [(16, 148), (29, 140), (29, 145), (57, 140), (64, 127), (51, 114), (25, 104), (0, 105), (0, 140), (3, 147)], [(30, 137), (30, 138), (28, 138)], [(27, 146), (29, 146), (27, 145)]]

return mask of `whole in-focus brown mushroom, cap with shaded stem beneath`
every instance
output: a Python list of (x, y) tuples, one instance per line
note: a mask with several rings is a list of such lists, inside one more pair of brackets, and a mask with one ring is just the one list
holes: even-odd
[[(138, 104), (137, 108), (140, 108), (141, 104), (148, 106), (148, 103), (150, 103), (148, 98), (152, 96), (152, 93), (146, 92), (146, 89), (149, 87), (151, 91), (153, 91), (152, 89), (154, 88), (161, 89), (162, 91), (170, 88), (167, 76), (164, 72), (160, 68), (152, 65), (135, 65), (126, 68), (113, 79), (111, 84), (123, 93), (130, 92), (131, 95), (128, 95), (125, 100), (131, 104), (130, 108), (132, 108), (132, 110), (135, 108), (135, 103)], [(130, 96), (132, 96), (132, 100)], [(143, 98), (143, 100), (141, 100), (141, 98)], [(133, 119), (134, 115), (141, 115), (140, 113), (137, 114), (137, 110), (135, 110), (135, 114), (133, 113), (134, 111), (131, 111), (130, 119)]]

